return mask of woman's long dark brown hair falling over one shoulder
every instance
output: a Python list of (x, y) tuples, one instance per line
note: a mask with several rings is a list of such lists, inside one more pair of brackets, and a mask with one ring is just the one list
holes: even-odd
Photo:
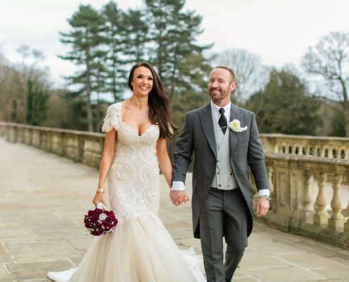
[(140, 66), (148, 68), (153, 75), (153, 87), (148, 94), (149, 119), (152, 121), (152, 124), (159, 125), (161, 138), (165, 139), (169, 137), (171, 139), (178, 132), (178, 128), (171, 121), (170, 100), (166, 96), (164, 84), (161, 82), (159, 75), (157, 75), (152, 65), (147, 62), (136, 63), (131, 68), (130, 75), (128, 75), (128, 87), (130, 87), (130, 90), (133, 90), (133, 86), (131, 85), (133, 73)]

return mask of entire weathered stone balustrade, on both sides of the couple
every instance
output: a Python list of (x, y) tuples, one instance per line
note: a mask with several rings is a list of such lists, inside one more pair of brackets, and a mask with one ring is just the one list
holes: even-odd
[[(16, 123), (0, 122), (0, 136), (8, 142), (32, 145), (94, 167), (99, 166), (104, 147), (101, 133)], [(258, 220), (281, 231), (349, 249), (349, 138), (270, 134), (261, 137), (271, 209)], [(323, 157), (311, 156), (312, 152), (320, 152)], [(332, 154), (326, 156), (326, 152)], [(345, 159), (333, 159), (343, 154)], [(255, 201), (257, 197), (255, 189)]]

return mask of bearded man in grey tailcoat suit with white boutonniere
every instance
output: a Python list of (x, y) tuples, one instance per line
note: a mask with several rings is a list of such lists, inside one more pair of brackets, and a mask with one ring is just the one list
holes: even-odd
[[(211, 102), (185, 115), (173, 161), (173, 204), (186, 199), (185, 175), (192, 171), (192, 226), (201, 239), (209, 282), (231, 281), (252, 231), (249, 168), (259, 192), (257, 216), (269, 209), (269, 185), (255, 114), (231, 103), (233, 70), (217, 66), (209, 76)], [(227, 248), (223, 262), (223, 237)]]

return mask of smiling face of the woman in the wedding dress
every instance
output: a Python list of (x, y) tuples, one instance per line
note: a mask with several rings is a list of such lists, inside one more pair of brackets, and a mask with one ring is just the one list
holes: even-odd
[(145, 68), (145, 66), (136, 68), (131, 82), (133, 94), (147, 96), (152, 90), (153, 82), (154, 78), (149, 68)]

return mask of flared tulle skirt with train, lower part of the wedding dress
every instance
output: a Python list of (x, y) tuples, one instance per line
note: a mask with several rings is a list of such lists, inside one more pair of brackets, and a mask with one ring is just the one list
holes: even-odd
[(77, 269), (49, 272), (56, 282), (206, 281), (202, 256), (180, 251), (157, 216), (144, 215), (94, 238)]

